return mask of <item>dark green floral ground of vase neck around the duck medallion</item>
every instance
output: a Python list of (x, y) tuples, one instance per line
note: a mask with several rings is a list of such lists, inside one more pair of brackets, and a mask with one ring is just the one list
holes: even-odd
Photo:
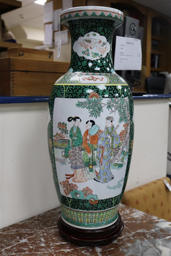
[[(83, 50), (83, 54), (90, 54), (93, 56), (94, 60), (88, 60), (84, 56), (78, 56), (73, 50), (73, 45), (79, 37), (85, 36), (85, 34), (90, 33), (91, 31), (99, 33), (101, 36), (105, 36), (107, 42), (112, 45), (113, 32), (115, 25), (118, 25), (117, 21), (114, 20), (105, 20), (105, 19), (79, 19), (79, 20), (69, 20), (69, 31), (71, 34), (71, 67), (73, 72), (91, 72), (95, 71), (100, 73), (113, 73), (113, 63), (112, 63), (112, 52), (111, 49), (105, 57), (102, 57), (97, 60), (99, 54), (95, 50), (89, 49), (89, 51)], [(95, 48), (94, 48), (95, 49)]]

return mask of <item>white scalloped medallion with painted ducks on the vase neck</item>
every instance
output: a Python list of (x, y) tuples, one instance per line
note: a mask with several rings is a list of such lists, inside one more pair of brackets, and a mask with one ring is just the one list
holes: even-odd
[(74, 42), (73, 50), (78, 56), (84, 56), (85, 59), (94, 61), (106, 57), (110, 51), (110, 45), (105, 36), (91, 31)]

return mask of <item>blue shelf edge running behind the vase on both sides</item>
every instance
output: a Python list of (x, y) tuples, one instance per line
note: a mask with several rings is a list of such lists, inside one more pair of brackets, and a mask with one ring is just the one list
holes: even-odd
[[(140, 99), (163, 99), (171, 98), (171, 94), (145, 94), (143, 96), (133, 96), (134, 100)], [(0, 104), (11, 103), (35, 103), (35, 102), (48, 102), (49, 96), (0, 96)]]

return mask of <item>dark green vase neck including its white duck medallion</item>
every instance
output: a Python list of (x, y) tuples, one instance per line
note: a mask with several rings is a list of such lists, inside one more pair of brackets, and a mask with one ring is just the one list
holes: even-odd
[(75, 19), (67, 22), (71, 34), (70, 71), (114, 73), (112, 38), (118, 21)]

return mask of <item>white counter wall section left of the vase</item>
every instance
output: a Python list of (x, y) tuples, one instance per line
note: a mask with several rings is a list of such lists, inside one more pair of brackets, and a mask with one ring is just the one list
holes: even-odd
[(59, 206), (47, 142), (47, 103), (1, 106), (1, 227)]

